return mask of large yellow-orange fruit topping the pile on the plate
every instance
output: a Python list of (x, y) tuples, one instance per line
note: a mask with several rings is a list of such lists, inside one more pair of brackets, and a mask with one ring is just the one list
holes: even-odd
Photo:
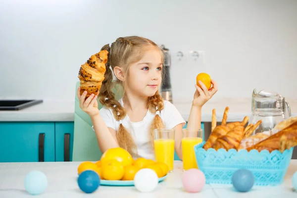
[(101, 165), (110, 159), (119, 161), (123, 166), (128, 166), (133, 163), (132, 155), (124, 148), (109, 148), (101, 156)]

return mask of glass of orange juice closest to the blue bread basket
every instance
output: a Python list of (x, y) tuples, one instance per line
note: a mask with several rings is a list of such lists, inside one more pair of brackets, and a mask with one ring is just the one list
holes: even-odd
[(182, 130), (183, 170), (198, 168), (194, 146), (202, 142), (203, 130)]

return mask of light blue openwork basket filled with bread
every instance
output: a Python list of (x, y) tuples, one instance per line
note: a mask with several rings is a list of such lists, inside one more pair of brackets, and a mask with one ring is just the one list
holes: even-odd
[(206, 184), (232, 184), (233, 173), (238, 169), (248, 169), (254, 175), (254, 185), (275, 186), (283, 183), (287, 173), (293, 148), (283, 153), (274, 150), (258, 152), (253, 149), (237, 151), (221, 148), (205, 150), (202, 142), (194, 147), (199, 169), (204, 173)]

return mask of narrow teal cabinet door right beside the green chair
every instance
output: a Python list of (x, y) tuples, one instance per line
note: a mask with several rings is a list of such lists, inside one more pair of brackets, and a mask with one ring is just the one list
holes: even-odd
[(72, 161), (74, 122), (55, 122), (55, 160)]

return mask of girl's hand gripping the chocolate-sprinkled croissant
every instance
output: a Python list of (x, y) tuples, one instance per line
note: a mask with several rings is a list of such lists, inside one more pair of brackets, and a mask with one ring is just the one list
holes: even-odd
[(80, 95), (80, 87), (77, 89), (77, 97), (79, 99), (79, 107), (88, 113), (90, 117), (98, 115), (99, 114), (99, 109), (98, 109), (98, 102), (97, 102), (97, 97), (99, 95), (94, 95), (92, 94), (86, 99), (87, 96), (87, 91), (85, 91), (82, 95)]

